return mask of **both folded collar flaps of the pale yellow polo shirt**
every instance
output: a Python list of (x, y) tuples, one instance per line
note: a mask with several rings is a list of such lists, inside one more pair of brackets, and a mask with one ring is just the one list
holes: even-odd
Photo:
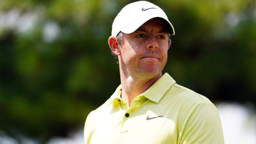
[[(159, 78), (151, 87), (149, 87), (145, 92), (140, 95), (144, 95), (149, 100), (158, 103), (160, 99), (164, 96), (166, 91), (175, 83), (176, 81), (168, 74), (165, 73)], [(112, 94), (112, 96), (105, 102), (105, 104), (109, 105), (114, 100), (121, 100), (122, 94), (122, 85), (119, 85), (116, 91)]]

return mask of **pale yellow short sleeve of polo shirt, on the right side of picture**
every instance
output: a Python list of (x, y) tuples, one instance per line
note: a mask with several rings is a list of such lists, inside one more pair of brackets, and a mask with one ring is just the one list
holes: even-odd
[(220, 116), (212, 103), (195, 108), (186, 122), (181, 144), (224, 144)]

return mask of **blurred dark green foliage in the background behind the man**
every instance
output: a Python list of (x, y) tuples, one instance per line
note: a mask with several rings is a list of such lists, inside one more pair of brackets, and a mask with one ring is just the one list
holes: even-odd
[[(83, 127), (120, 84), (108, 37), (133, 1), (0, 0), (0, 130), (42, 143)], [(256, 104), (256, 2), (159, 0), (168, 72), (211, 101)]]

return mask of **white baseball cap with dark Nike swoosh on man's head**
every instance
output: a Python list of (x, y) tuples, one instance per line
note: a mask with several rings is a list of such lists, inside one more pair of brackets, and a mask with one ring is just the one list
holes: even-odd
[(169, 32), (174, 35), (173, 25), (164, 11), (159, 6), (147, 1), (138, 1), (124, 6), (113, 21), (111, 35), (117, 36), (120, 31), (127, 34), (132, 33), (151, 18), (164, 19)]

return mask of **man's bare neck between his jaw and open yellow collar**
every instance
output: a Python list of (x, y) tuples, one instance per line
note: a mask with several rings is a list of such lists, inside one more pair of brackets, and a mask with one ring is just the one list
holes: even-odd
[(122, 99), (128, 103), (130, 106), (133, 99), (139, 94), (146, 91), (150, 86), (152, 86), (162, 74), (160, 73), (156, 77), (148, 78), (148, 79), (137, 79), (131, 76), (124, 76), (122, 72), (120, 72), (121, 84), (122, 84)]

